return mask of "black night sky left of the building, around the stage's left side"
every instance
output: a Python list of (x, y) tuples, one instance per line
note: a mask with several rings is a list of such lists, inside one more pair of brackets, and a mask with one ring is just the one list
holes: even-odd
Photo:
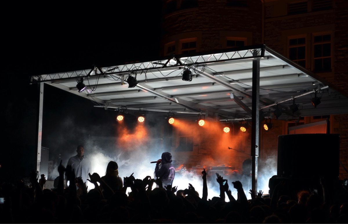
[[(38, 89), (29, 85), (29, 77), (159, 58), (160, 8), (157, 0), (113, 6), (8, 7), (2, 15), (1, 47), (6, 149), (0, 150), (2, 170), (13, 170), (7, 175), (25, 175), (28, 167), (36, 167)], [(93, 129), (112, 118), (113, 114), (93, 105), (46, 86), (42, 146), (52, 147), (52, 139), (66, 137), (52, 136), (60, 119), (70, 116)]]

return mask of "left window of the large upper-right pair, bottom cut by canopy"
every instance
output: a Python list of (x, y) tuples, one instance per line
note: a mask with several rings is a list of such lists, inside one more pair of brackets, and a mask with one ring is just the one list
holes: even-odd
[(306, 67), (306, 37), (288, 38), (289, 59)]

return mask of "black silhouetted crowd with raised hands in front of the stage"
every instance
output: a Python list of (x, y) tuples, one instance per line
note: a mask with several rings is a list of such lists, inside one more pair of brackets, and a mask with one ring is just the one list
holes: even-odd
[[(160, 179), (136, 179), (133, 174), (122, 181), (115, 162), (109, 163), (103, 177), (89, 174), (88, 181), (95, 186), (89, 191), (70, 165), (61, 162), (58, 173), (53, 190), (45, 189), (46, 179), (39, 179), (34, 170), (28, 181), (1, 183), (1, 223), (348, 223), (346, 180), (335, 185), (330, 198), (324, 186), (322, 193), (303, 189), (294, 197), (280, 181), (272, 197), (249, 190), (251, 199), (247, 199), (241, 182), (229, 183), (216, 174), (220, 197), (208, 199), (205, 169), (203, 189), (195, 189), (190, 180), (187, 189), (163, 188)], [(231, 187), (237, 190), (237, 198)]]

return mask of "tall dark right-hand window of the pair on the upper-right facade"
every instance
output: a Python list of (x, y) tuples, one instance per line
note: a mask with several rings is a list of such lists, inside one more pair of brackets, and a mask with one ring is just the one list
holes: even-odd
[(331, 34), (314, 35), (313, 59), (315, 72), (331, 71)]

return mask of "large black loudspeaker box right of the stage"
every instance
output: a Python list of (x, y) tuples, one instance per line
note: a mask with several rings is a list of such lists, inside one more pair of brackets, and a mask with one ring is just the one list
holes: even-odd
[(339, 152), (339, 134), (279, 135), (277, 176), (337, 180)]

